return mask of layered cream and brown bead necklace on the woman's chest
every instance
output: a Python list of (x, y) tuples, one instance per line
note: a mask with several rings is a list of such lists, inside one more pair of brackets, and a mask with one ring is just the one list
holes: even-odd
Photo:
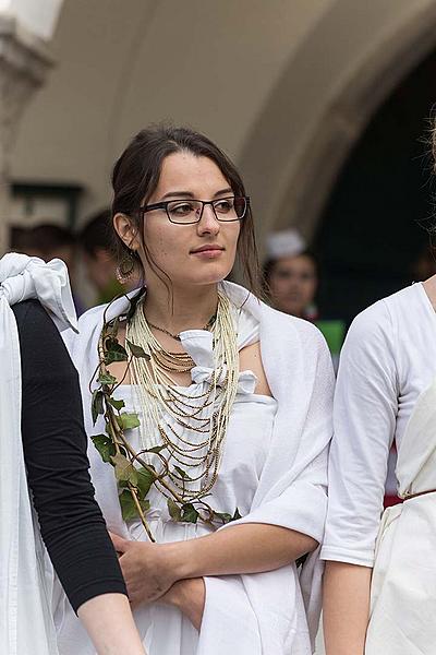
[[(202, 393), (178, 386), (171, 378), (172, 373), (189, 372), (195, 362), (187, 353), (171, 353), (162, 347), (146, 320), (144, 301), (138, 303), (126, 331), (126, 340), (149, 355), (149, 360), (131, 358), (131, 382), (138, 393), (143, 410), (140, 428), (143, 448), (156, 445), (152, 441), (159, 434), (158, 445), (164, 445), (166, 451), (162, 452), (168, 453), (167, 481), (185, 502), (209, 493), (217, 480), (230, 412), (237, 395), (237, 330), (230, 300), (220, 291), (210, 331), (214, 338), (214, 370)], [(179, 335), (168, 334), (179, 338)], [(126, 349), (129, 353), (128, 341)], [(152, 434), (147, 434), (148, 430)], [(167, 496), (164, 489), (160, 490)]]

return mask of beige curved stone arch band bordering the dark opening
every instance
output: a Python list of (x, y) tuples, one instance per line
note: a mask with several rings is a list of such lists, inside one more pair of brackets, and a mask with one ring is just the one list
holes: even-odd
[[(262, 216), (261, 237), (289, 225), (312, 237), (341, 166), (371, 116), (436, 45), (433, 1), (397, 0), (397, 12), (387, 2), (390, 13), (385, 15), (379, 7), (372, 13), (370, 5), (360, 15), (352, 4), (334, 3), (307, 36), (241, 153), (256, 214)], [(338, 44), (341, 25), (348, 36)], [(335, 61), (326, 62), (331, 51)], [(347, 52), (349, 59), (341, 61)], [(324, 84), (322, 93), (317, 84)], [(319, 102), (316, 111), (307, 111), (306, 127), (301, 115), (300, 126), (299, 120), (292, 122), (296, 112), (290, 98), (299, 90), (305, 95), (295, 103), (300, 111)]]

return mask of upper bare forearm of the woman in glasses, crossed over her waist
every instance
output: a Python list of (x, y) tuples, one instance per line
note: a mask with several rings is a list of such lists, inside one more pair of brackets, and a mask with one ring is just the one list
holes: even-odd
[(178, 580), (272, 571), (314, 550), (307, 535), (263, 523), (246, 523), (187, 541), (166, 545)]

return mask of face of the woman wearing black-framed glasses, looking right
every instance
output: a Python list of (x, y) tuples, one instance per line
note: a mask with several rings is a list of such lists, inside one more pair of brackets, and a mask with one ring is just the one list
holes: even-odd
[[(147, 204), (167, 200), (211, 201), (233, 195), (229, 182), (211, 159), (174, 153), (164, 159), (159, 183)], [(144, 214), (144, 242), (149, 255), (178, 287), (209, 285), (223, 279), (233, 267), (239, 234), (239, 221), (217, 221), (211, 205), (206, 205), (202, 219), (191, 225), (171, 223), (161, 209)], [(153, 284), (156, 273), (141, 245), (137, 252), (147, 284)]]

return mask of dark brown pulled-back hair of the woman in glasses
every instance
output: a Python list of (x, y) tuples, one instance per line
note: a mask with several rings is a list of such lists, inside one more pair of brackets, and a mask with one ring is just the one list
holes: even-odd
[[(245, 195), (243, 181), (233, 163), (204, 134), (190, 128), (177, 128), (166, 124), (152, 126), (138, 132), (113, 167), (112, 216), (121, 213), (131, 217), (142, 237), (147, 261), (156, 272), (158, 267), (150, 259), (146, 243), (144, 243), (144, 225), (140, 207), (147, 204), (148, 199), (154, 193), (159, 182), (164, 159), (168, 155), (179, 152), (189, 152), (197, 157), (208, 157), (218, 166), (233, 193)], [(130, 252), (118, 235), (116, 237), (116, 251), (120, 262)], [(244, 218), (241, 221), (237, 258), (245, 284), (256, 296), (261, 296), (259, 265), (250, 205)], [(136, 258), (136, 265), (144, 273), (138, 258)], [(165, 275), (164, 271), (160, 271), (160, 273)]]

